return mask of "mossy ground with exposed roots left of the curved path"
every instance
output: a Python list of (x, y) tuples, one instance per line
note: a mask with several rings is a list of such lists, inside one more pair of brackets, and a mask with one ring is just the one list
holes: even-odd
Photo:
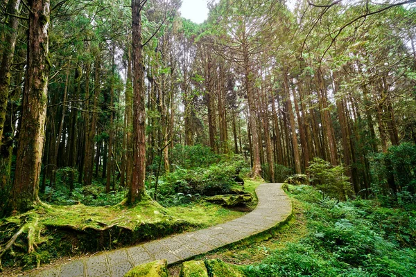
[[(246, 180), (245, 190), (255, 196), (254, 190), (261, 183), (263, 181)], [(62, 257), (115, 249), (221, 224), (241, 217), (256, 204), (256, 197), (249, 207), (233, 209), (203, 201), (164, 208), (150, 199), (136, 206), (42, 204), (32, 211), (0, 221), (0, 244), (3, 246), (24, 229), (1, 257), (6, 270), (4, 274), (21, 267), (39, 267)]]

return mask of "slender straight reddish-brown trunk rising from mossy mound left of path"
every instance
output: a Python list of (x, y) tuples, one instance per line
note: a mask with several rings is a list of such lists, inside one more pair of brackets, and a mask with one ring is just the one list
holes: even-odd
[(133, 49), (133, 170), (128, 202), (134, 203), (144, 195), (146, 173), (146, 110), (144, 107), (144, 62), (141, 44), (141, 10), (146, 1), (132, 0)]

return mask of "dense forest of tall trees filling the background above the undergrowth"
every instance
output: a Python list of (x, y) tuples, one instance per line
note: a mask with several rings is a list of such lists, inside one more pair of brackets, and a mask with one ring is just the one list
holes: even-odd
[(413, 202), (413, 2), (223, 0), (198, 25), (174, 0), (3, 1), (0, 206), (157, 198), (223, 157), (267, 181), (342, 166), (340, 199)]

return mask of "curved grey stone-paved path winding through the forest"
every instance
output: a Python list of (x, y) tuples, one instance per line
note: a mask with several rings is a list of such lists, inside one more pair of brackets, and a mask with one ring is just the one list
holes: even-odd
[(291, 215), (291, 200), (281, 189), (281, 184), (261, 184), (256, 193), (259, 204), (254, 211), (235, 220), (75, 260), (47, 271), (35, 271), (28, 276), (122, 277), (135, 265), (160, 259), (172, 264), (238, 242), (277, 226)]

